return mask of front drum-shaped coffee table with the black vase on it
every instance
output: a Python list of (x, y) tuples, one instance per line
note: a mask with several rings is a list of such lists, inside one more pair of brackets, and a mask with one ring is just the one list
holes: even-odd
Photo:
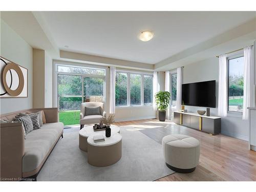
[[(101, 135), (101, 134), (98, 134)], [(105, 137), (105, 141), (94, 142), (94, 135), (88, 137), (88, 163), (94, 166), (109, 166), (122, 157), (122, 136), (114, 133), (111, 137)]]

